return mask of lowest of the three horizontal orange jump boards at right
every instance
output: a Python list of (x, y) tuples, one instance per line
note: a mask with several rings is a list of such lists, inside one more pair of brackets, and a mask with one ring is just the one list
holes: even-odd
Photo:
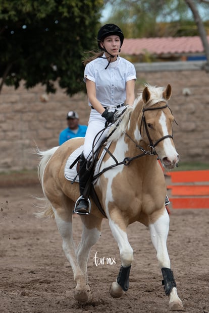
[(208, 198), (170, 198), (173, 209), (209, 209)]

